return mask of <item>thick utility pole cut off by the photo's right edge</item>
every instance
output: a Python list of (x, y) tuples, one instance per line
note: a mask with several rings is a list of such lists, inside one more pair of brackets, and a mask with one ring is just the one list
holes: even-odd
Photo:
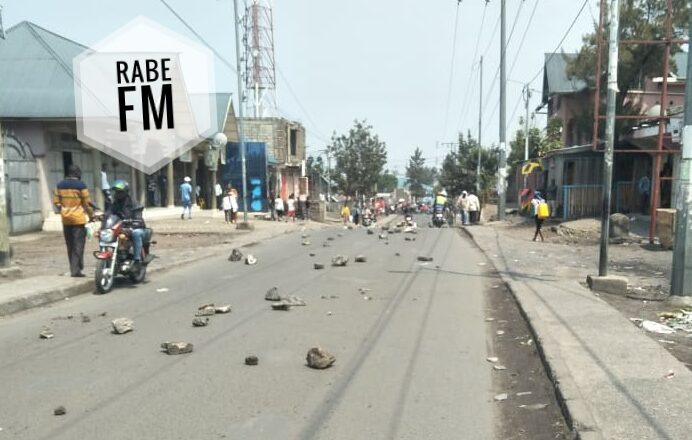
[[(692, 24), (692, 9), (689, 16)], [(692, 27), (689, 28), (692, 41)], [(687, 78), (692, 78), (692, 57), (687, 58)], [(680, 160), (680, 179), (677, 182), (675, 202), (675, 243), (673, 244), (673, 270), (670, 293), (675, 296), (692, 295), (692, 87), (685, 87), (685, 127), (682, 132), (682, 158)]]

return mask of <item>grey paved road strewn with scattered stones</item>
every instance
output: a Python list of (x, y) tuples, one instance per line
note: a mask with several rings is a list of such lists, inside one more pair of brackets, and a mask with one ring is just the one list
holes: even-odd
[[(310, 246), (294, 233), (244, 249), (256, 266), (223, 255), (0, 320), (0, 439), (493, 438), (478, 251), (451, 229), (422, 228), (415, 242), (392, 234), (388, 245), (363, 229), (311, 234)], [(348, 266), (329, 266), (338, 253)], [(359, 253), (368, 263), (353, 263)], [(274, 285), (307, 306), (272, 311)], [(193, 328), (208, 302), (233, 312)], [(110, 334), (121, 316), (135, 332)], [(54, 339), (38, 339), (43, 325)], [(168, 356), (165, 340), (195, 350)], [(336, 364), (307, 368), (313, 346)], [(259, 366), (243, 364), (249, 354)], [(53, 415), (59, 405), (66, 415)]]

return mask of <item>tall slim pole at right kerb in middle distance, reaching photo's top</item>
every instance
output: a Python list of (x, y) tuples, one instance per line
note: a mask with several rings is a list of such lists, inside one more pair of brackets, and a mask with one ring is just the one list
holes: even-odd
[(506, 0), (500, 1), (500, 166), (497, 182), (497, 218), (505, 219), (505, 202), (507, 199), (507, 35), (506, 35)]

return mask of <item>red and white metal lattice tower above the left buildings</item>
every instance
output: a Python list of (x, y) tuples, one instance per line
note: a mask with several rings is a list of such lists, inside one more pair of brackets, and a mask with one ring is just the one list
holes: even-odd
[(271, 0), (246, 1), (243, 24), (248, 110), (252, 109), (251, 114), (256, 118), (276, 116), (278, 99)]

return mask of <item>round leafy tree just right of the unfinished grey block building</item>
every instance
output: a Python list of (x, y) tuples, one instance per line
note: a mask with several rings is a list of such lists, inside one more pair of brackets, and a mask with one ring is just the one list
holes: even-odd
[(353, 123), (348, 135), (332, 135), (328, 147), (336, 160), (333, 180), (344, 194), (372, 195), (387, 162), (387, 148), (366, 121)]

